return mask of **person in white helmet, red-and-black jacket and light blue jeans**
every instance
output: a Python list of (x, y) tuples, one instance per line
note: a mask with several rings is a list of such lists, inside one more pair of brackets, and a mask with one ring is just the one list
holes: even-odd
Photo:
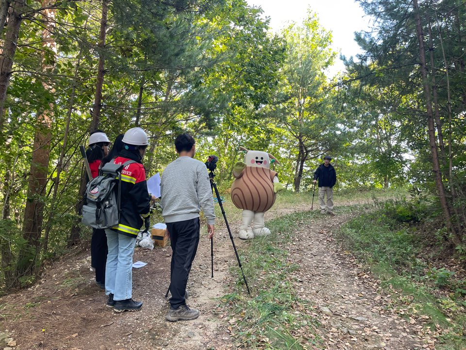
[(108, 244), (105, 272), (105, 294), (107, 306), (115, 312), (137, 311), (142, 301), (133, 296), (133, 253), (136, 237), (143, 224), (149, 227), (150, 200), (146, 183), (146, 169), (142, 158), (149, 141), (141, 128), (128, 130), (123, 137), (123, 150), (113, 160), (114, 164), (125, 164), (121, 170), (121, 203), (118, 225), (106, 229)]

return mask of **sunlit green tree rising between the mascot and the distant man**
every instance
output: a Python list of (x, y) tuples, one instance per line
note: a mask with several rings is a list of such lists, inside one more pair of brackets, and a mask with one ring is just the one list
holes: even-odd
[(306, 186), (306, 181), (312, 181), (315, 167), (309, 163), (323, 152), (336, 152), (347, 129), (336, 113), (335, 90), (325, 76), (336, 56), (330, 48), (332, 34), (309, 12), (301, 25), (290, 24), (282, 35), (286, 57), (280, 83), (273, 103), (264, 112), (278, 121), (283, 157), (294, 163), (282, 182), (293, 183), (299, 192), (301, 182)]

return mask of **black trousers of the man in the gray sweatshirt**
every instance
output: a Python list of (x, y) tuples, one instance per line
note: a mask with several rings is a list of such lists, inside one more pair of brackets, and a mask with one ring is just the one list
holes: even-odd
[(167, 222), (166, 228), (170, 233), (173, 250), (170, 266), (170, 305), (177, 309), (186, 302), (186, 283), (199, 244), (199, 217)]

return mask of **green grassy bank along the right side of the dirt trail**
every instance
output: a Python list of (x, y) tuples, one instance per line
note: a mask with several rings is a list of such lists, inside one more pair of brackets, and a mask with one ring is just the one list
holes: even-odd
[[(421, 210), (429, 208), (412, 206), (412, 203), (406, 206), (402, 202), (388, 202), (375, 212), (347, 222), (337, 237), (382, 281), (383, 288), (399, 296), (393, 299), (391, 307), (405, 316), (428, 316), (431, 329), (439, 325), (446, 330), (438, 339), (437, 350), (463, 350), (466, 348), (466, 302), (461, 287), (464, 281), (454, 281), (453, 272), (431, 266), (430, 258), (434, 256), (426, 256), (433, 254), (428, 249), (431, 242), (426, 239), (427, 233), (419, 232), (417, 223), (422, 217)], [(459, 290), (456, 293), (455, 288)], [(398, 294), (392, 293), (395, 290)]]

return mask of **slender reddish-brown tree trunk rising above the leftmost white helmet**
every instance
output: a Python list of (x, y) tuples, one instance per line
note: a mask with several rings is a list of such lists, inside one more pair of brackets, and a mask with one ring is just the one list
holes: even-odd
[(103, 76), (105, 74), (105, 58), (103, 57), (103, 49), (105, 48), (105, 36), (107, 33), (107, 15), (108, 15), (108, 0), (102, 0), (102, 18), (100, 19), (100, 34), (99, 34), (99, 64), (97, 69), (96, 95), (94, 97), (94, 106), (92, 107), (92, 123), (91, 131), (99, 129), (100, 109), (102, 106), (102, 86)]

